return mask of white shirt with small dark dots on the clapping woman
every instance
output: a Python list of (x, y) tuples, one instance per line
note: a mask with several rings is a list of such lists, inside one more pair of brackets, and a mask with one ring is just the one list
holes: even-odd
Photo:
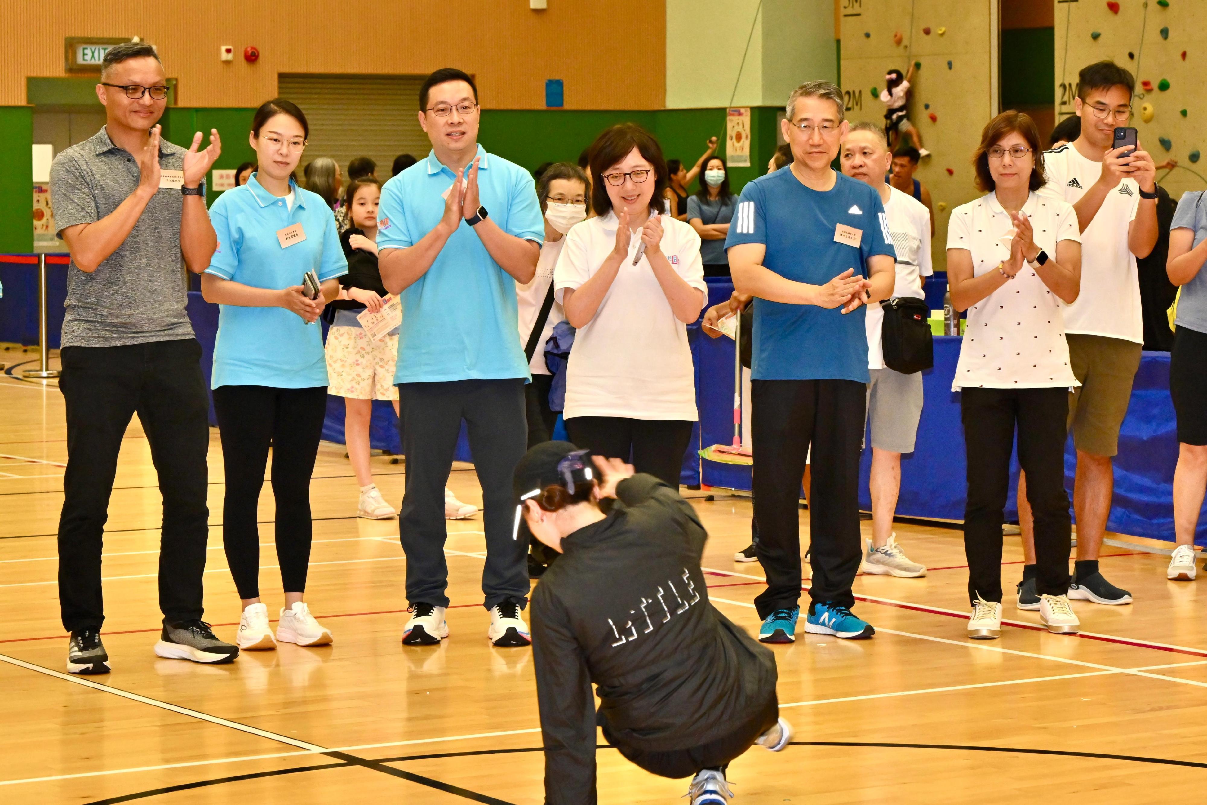
[[(1031, 193), (1022, 211), (1036, 245), (1056, 257), (1059, 240), (1078, 240), (1077, 212), (1067, 202)], [(996, 272), (1009, 259), (1014, 224), (996, 193), (957, 206), (947, 222), (947, 249), (967, 249), (973, 275)], [(968, 309), (951, 390), (1045, 389), (1079, 385), (1068, 364), (1068, 308), (1027, 264), (1013, 280)]]

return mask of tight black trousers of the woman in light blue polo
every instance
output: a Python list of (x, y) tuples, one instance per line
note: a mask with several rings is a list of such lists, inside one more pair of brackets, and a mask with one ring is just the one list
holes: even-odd
[(256, 512), (269, 447), (281, 585), (285, 593), (304, 593), (313, 538), (310, 476), (327, 413), (327, 387), (218, 386), (214, 410), (226, 467), (222, 546), (239, 597), (260, 597)]

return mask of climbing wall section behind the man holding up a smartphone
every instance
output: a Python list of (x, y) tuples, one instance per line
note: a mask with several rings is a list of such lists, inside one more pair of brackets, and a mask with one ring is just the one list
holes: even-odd
[[(1177, 200), (1207, 187), (1207, 1), (1054, 0), (1056, 118), (1073, 115), (1077, 74), (1086, 64), (1114, 59), (1136, 76), (1139, 141), (1161, 164), (1161, 185)], [(1147, 82), (1147, 83), (1142, 83)], [(1164, 179), (1162, 179), (1164, 176)]]

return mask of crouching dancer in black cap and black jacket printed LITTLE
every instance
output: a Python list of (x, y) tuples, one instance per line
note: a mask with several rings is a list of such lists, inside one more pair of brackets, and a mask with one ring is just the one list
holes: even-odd
[(517, 529), (523, 518), (562, 554), (531, 605), (547, 805), (596, 801), (596, 724), (642, 769), (694, 775), (693, 805), (728, 803), (729, 762), (754, 743), (779, 752), (792, 733), (774, 654), (709, 603), (695, 511), (653, 476), (568, 442), (527, 451), (515, 496)]

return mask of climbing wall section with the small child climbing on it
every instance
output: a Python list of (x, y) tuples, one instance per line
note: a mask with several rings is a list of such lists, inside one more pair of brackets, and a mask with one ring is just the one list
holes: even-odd
[(931, 191), (937, 270), (947, 216), (980, 193), (972, 152), (997, 112), (997, 0), (839, 0), (841, 83), (851, 121), (884, 122), (877, 95), (893, 68), (914, 70), (910, 119), (932, 156), (915, 177)]

